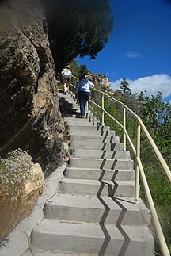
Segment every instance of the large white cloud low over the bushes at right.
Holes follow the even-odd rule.
[[[111,83],[111,89],[120,89],[120,80]],[[163,98],[171,96],[171,77],[165,74],[151,75],[136,80],[127,79],[128,87],[132,93],[140,93],[146,90],[148,96],[158,94],[158,91],[163,93]]]

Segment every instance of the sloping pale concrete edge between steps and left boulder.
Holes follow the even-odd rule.
[[[59,189],[59,182],[63,178],[65,168],[66,164],[59,166],[59,168],[55,169],[45,180],[44,193],[39,197],[31,214],[17,224],[13,231],[6,237],[3,246],[0,248],[0,256],[21,256],[28,250],[28,240],[24,232],[26,232],[29,237],[35,224],[43,220],[44,205]]]

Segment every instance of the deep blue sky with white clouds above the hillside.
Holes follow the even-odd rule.
[[[171,3],[169,0],[111,0],[114,29],[96,60],[78,59],[108,76],[112,89],[127,78],[132,92],[163,92],[171,98]]]

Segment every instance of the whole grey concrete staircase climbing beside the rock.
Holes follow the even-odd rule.
[[[79,117],[70,95],[60,94],[70,134],[70,157],[60,189],[32,231],[36,256],[96,254],[154,256],[148,210],[134,197],[134,164],[120,138],[87,113]]]

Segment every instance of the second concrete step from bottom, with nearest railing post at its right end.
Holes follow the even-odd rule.
[[[142,225],[148,211],[142,201],[133,198],[82,196],[58,193],[47,202],[44,216],[48,219],[74,222]]]

